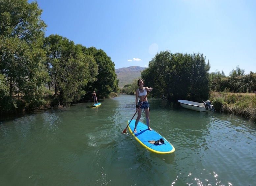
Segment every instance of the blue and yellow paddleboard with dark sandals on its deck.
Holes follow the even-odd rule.
[[[128,120],[127,125],[129,124],[130,120]],[[148,126],[139,122],[136,130],[137,133],[133,133],[135,126],[135,120],[131,120],[128,129],[130,133],[135,137],[135,139],[145,148],[148,150],[158,153],[158,154],[167,154],[167,153],[172,153],[175,151],[174,146],[170,144],[164,137],[162,137],[160,134],[158,134],[155,130],[152,129],[152,131],[148,130]],[[149,141],[157,141],[159,139],[164,140],[163,145],[154,145],[152,142],[150,143]]]

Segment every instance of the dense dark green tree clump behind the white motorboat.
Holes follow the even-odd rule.
[[[154,88],[155,97],[195,100],[208,97],[209,69],[203,54],[166,50],[156,54],[141,77]]]

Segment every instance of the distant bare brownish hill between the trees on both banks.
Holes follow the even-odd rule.
[[[140,78],[140,72],[144,69],[145,67],[140,66],[129,66],[126,68],[115,69],[117,79],[119,79],[118,87],[123,88],[125,85],[132,83],[134,79]]]

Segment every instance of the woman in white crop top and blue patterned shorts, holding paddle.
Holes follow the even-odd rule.
[[[138,117],[135,121],[135,127],[134,127],[134,133],[137,133],[136,127],[138,125],[138,122],[140,120],[141,117],[141,111],[142,109],[144,109],[145,111],[145,115],[146,115],[146,121],[147,121],[147,125],[148,125],[148,129],[152,130],[149,127],[149,102],[147,99],[147,91],[151,92],[153,90],[153,88],[148,88],[148,87],[143,87],[144,85],[144,80],[143,79],[139,79],[138,80],[138,86],[139,88],[136,90],[136,98],[135,98],[135,102],[136,102],[136,111],[138,112]],[[139,97],[139,102],[138,102],[138,97]],[[143,102],[144,100],[144,102]],[[139,108],[139,105],[142,103],[142,105]]]

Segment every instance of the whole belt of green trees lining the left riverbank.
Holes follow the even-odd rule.
[[[1,113],[43,106],[51,95],[51,105],[69,105],[92,90],[108,97],[117,89],[110,57],[59,35],[44,38],[42,12],[37,2],[0,1]]]

